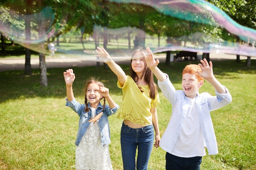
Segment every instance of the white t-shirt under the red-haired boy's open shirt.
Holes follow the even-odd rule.
[[[196,98],[196,97],[195,97]],[[195,108],[195,98],[186,97],[188,107],[186,118],[182,123],[180,135],[171,152],[177,157],[203,157],[206,155],[204,149],[204,137],[200,128],[198,113]]]

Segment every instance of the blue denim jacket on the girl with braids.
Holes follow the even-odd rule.
[[[76,136],[76,146],[79,145],[83,135],[85,134],[86,130],[88,129],[92,119],[92,110],[90,104],[88,103],[89,112],[85,112],[85,104],[80,104],[74,98],[71,102],[66,99],[66,106],[69,106],[72,110],[74,110],[80,117],[79,119],[79,127]],[[101,144],[102,146],[106,146],[110,144],[110,129],[108,124],[108,116],[113,115],[117,112],[119,106],[116,104],[115,108],[110,108],[108,105],[105,106],[103,115],[97,121],[99,124],[99,128],[101,130]],[[96,108],[96,115],[101,113],[103,110],[103,106],[99,103],[99,106]]]

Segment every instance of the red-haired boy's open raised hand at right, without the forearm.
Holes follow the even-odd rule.
[[[202,73],[200,73],[200,71],[198,71],[198,75],[200,75],[204,79],[214,78],[212,62],[210,61],[208,64],[208,62],[205,58],[203,60],[200,60],[200,62],[201,63],[199,63],[198,66],[200,66]]]

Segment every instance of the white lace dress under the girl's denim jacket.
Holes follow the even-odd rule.
[[[92,117],[96,110],[92,108]],[[113,170],[108,146],[101,144],[99,124],[91,122],[76,148],[76,170]]]

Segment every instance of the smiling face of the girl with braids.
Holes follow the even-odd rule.
[[[97,90],[99,90],[99,85],[95,83],[89,84],[86,89],[86,99],[92,108],[97,108],[102,98]]]

